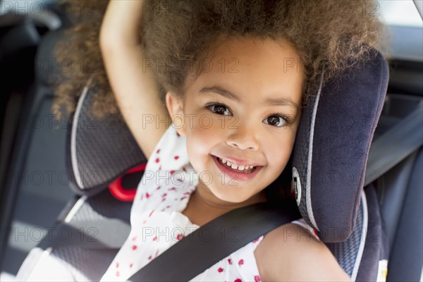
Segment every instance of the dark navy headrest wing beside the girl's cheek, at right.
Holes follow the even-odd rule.
[[[293,149],[293,188],[300,213],[326,243],[355,226],[367,157],[388,85],[378,51],[320,87],[305,107]]]

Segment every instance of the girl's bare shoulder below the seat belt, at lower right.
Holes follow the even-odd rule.
[[[255,257],[262,281],[350,281],[326,245],[295,223],[267,233]]]

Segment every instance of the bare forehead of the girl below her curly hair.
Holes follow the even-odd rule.
[[[186,90],[219,85],[255,97],[279,93],[294,102],[301,99],[300,56],[283,40],[221,37],[200,59],[198,68],[197,75],[187,80]]]

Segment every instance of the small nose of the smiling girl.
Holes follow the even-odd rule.
[[[226,141],[229,146],[252,151],[259,149],[258,132],[254,128],[247,125],[238,125],[237,128],[228,130],[231,130]]]

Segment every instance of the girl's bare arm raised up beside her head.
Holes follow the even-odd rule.
[[[140,0],[111,0],[99,41],[119,109],[145,157],[149,158],[170,122],[159,100],[159,85],[152,68],[142,68],[140,20],[143,4]],[[156,123],[157,118],[168,122]]]

